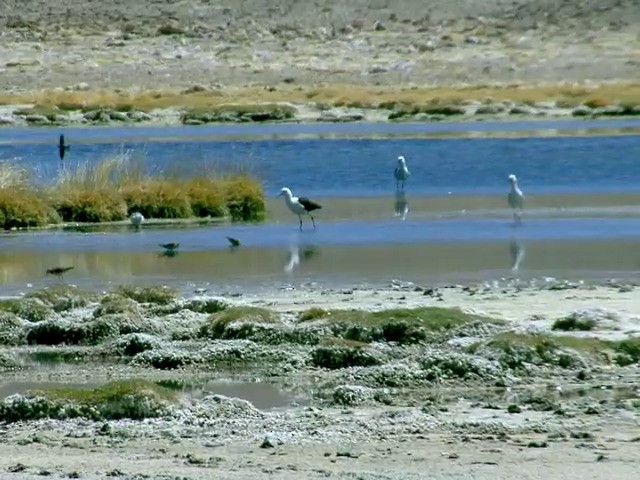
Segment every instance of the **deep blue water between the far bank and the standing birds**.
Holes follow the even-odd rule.
[[[600,122],[611,128],[634,122]],[[558,125],[558,124],[561,124]],[[144,155],[154,170],[180,174],[207,166],[222,171],[247,169],[262,181],[267,195],[282,186],[311,197],[388,196],[395,184],[398,155],[407,158],[412,195],[503,194],[507,175],[515,173],[526,193],[640,192],[640,135],[511,139],[280,139],[259,141],[198,140],[180,136],[247,135],[265,132],[418,132],[442,129],[517,130],[518,128],[585,128],[587,122],[528,122],[417,125],[269,125],[184,128],[74,128],[0,130],[0,159],[13,159],[42,180],[59,171],[57,135],[72,145],[69,168],[96,162],[122,149]],[[160,138],[128,142],[123,138]],[[100,139],[100,141],[96,141]],[[48,143],[44,143],[48,141]],[[12,143],[18,142],[18,143]]]

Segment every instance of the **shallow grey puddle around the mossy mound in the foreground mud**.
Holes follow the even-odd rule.
[[[165,388],[179,391],[193,399],[201,399],[207,395],[224,395],[231,398],[240,398],[251,402],[260,410],[273,410],[291,407],[294,403],[304,402],[282,392],[277,387],[261,382],[234,382],[234,381],[193,381],[160,380],[156,382]],[[63,383],[63,382],[8,382],[0,384],[0,399],[16,393],[25,393],[30,390],[44,390],[49,388],[97,388],[102,383]]]

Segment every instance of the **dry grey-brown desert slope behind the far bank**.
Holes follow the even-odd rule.
[[[634,81],[638,0],[3,0],[0,88]]]

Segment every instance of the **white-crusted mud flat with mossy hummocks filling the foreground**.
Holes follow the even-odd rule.
[[[635,478],[639,307],[551,279],[32,291],[0,301],[0,471]]]

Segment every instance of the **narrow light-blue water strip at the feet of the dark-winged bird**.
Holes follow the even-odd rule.
[[[632,239],[640,234],[640,218],[531,219],[514,228],[503,219],[431,221],[349,221],[306,227],[296,224],[209,226],[190,229],[123,229],[110,233],[42,232],[4,235],[2,247],[15,252],[149,252],[159,244],[180,242],[180,251],[212,251],[229,247],[225,236],[242,239],[244,248],[291,245],[358,246],[401,244],[479,244],[518,241],[596,241]]]

